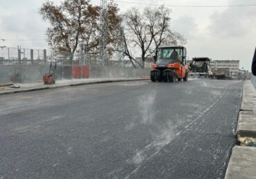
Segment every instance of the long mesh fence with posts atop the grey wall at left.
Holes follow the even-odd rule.
[[[88,65],[109,67],[131,67],[131,61],[120,56],[102,56],[80,52],[60,52],[53,50],[35,50],[26,48],[0,48],[0,65]],[[145,62],[149,68],[152,62]]]

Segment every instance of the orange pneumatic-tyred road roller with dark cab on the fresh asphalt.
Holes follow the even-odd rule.
[[[164,46],[158,48],[158,56],[150,72],[152,82],[188,81],[187,50],[183,46]]]

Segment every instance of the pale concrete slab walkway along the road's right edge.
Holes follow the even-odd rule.
[[[244,83],[236,136],[240,146],[232,149],[225,178],[256,178],[256,88],[251,81]]]

